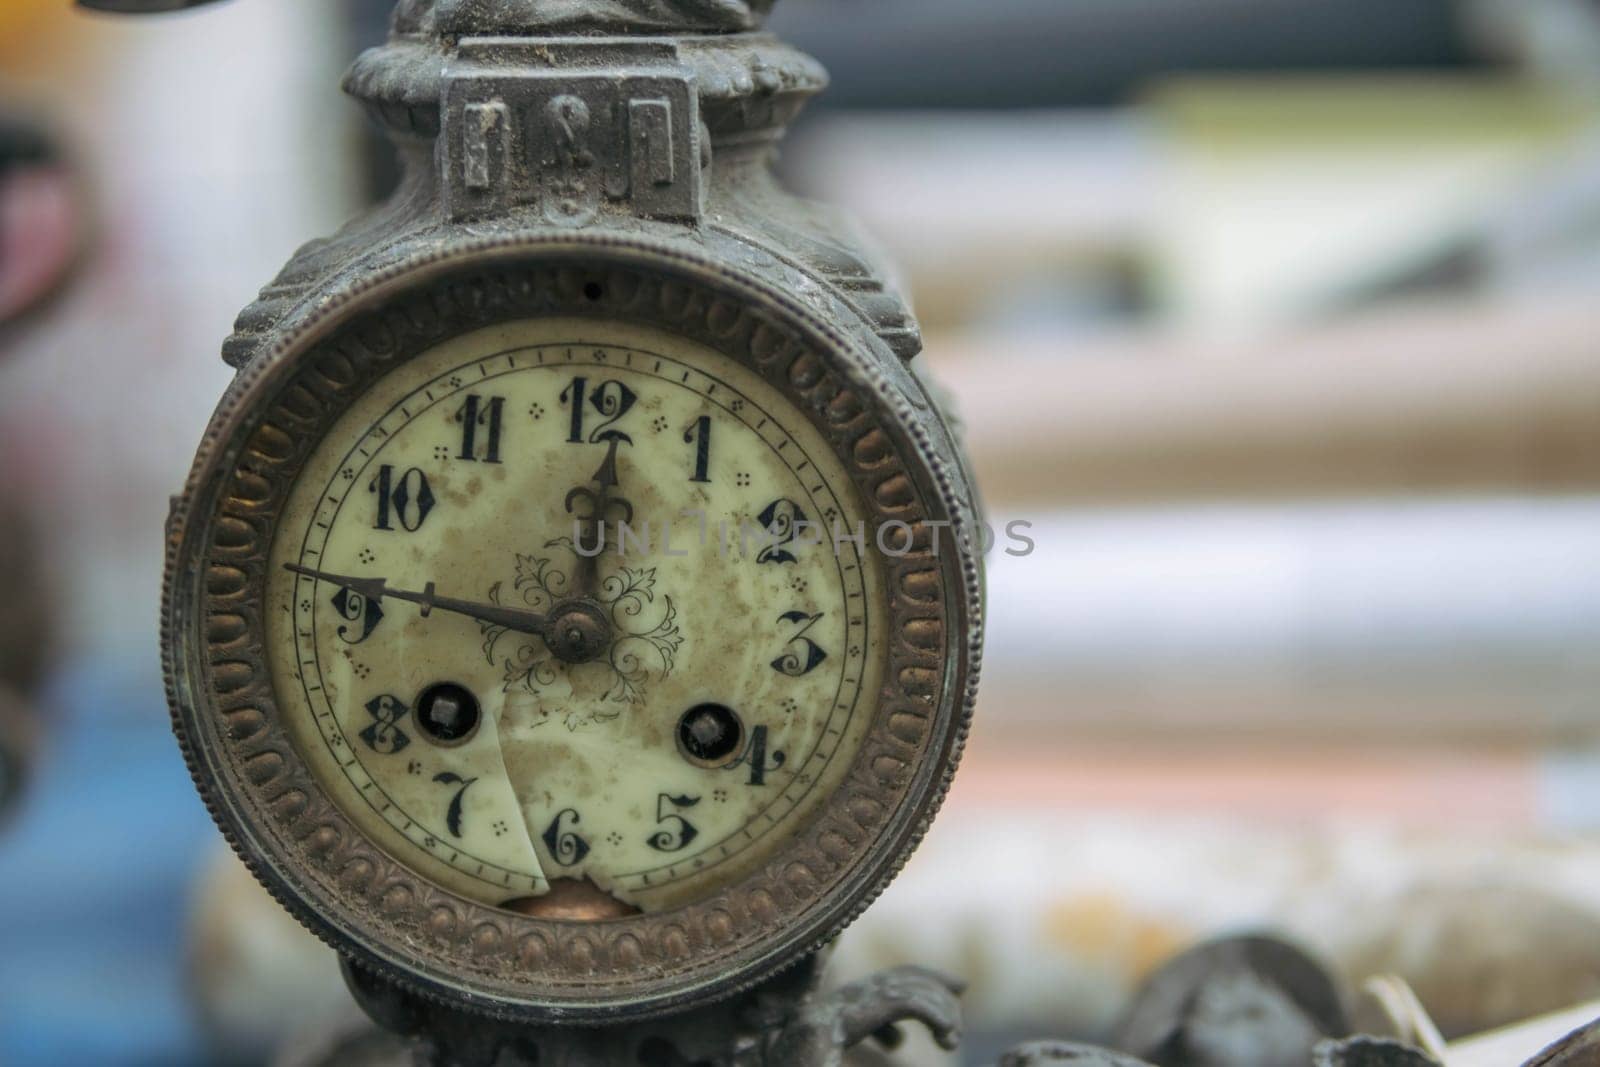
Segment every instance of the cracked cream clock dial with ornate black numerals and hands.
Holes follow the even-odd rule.
[[[550,918],[704,899],[867,736],[866,515],[811,422],[709,347],[589,318],[462,334],[378,379],[293,483],[264,605],[280,713],[334,805],[453,893]]]

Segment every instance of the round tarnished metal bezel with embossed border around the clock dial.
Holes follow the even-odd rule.
[[[936,405],[899,360],[840,326],[851,315],[690,240],[525,232],[443,248],[419,242],[386,261],[307,306],[243,368],[174,501],[166,685],[208,808],[258,878],[320,937],[402,989],[501,1019],[654,1017],[803,958],[902,867],[949,787],[973,710],[976,514]],[[746,363],[813,419],[870,522],[915,531],[909,555],[883,558],[888,669],[845,784],[765,867],[669,913],[534,920],[427,883],[322,793],[266,670],[266,560],[277,509],[312,445],[405,358],[466,330],[542,315],[653,323]]]

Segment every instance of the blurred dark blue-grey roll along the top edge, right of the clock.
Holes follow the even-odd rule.
[[[811,0],[773,27],[832,69],[824,107],[1107,106],[1171,70],[1483,62],[1456,0]]]

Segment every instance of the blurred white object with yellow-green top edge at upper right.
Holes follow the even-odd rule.
[[[1211,333],[1338,310],[1469,240],[1595,122],[1507,78],[1174,82],[1157,286]]]

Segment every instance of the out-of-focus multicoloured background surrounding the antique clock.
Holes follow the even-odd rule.
[[[157,603],[234,315],[394,181],[336,90],[387,6],[0,5],[0,1064],[267,1062],[350,1011],[222,857]],[[966,976],[973,1064],[1237,928],[1446,1035],[1600,997],[1600,3],[774,27],[835,82],[786,176],[899,261],[1037,545],[838,971]]]

